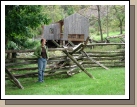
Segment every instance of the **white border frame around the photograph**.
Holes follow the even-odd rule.
[[[67,3],[66,3],[67,2]],[[56,4],[55,4],[56,3]],[[129,1],[1,1],[1,46],[5,50],[5,5],[125,5],[125,95],[5,95],[5,51],[1,51],[1,99],[129,99]],[[35,97],[34,97],[35,96]]]

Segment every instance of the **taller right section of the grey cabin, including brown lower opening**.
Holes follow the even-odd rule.
[[[64,19],[64,38],[72,42],[80,43],[89,36],[89,20],[78,13]]]

